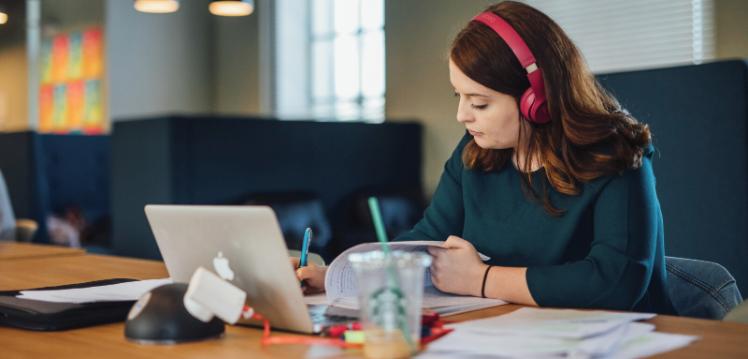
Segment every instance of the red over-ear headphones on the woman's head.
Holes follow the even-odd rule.
[[[481,22],[496,32],[502,40],[512,49],[514,56],[527,71],[527,79],[530,80],[530,88],[522,94],[519,100],[519,109],[522,115],[533,123],[546,123],[551,120],[548,114],[548,106],[545,101],[545,84],[543,74],[535,61],[535,56],[527,47],[522,37],[514,31],[509,23],[493,12],[486,11],[473,18],[473,21]]]

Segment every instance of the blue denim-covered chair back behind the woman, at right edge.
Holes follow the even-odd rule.
[[[743,301],[735,278],[718,263],[666,257],[668,292],[678,315],[722,319]]]

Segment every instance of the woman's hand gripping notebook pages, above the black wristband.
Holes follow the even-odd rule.
[[[480,296],[486,264],[473,245],[457,236],[449,236],[441,248],[428,247],[434,257],[431,281],[442,292]]]

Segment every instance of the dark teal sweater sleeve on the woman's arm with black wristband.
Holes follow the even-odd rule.
[[[650,156],[599,192],[594,237],[584,259],[527,269],[527,285],[538,305],[630,310],[642,299],[662,236]]]

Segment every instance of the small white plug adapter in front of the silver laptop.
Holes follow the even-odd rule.
[[[234,324],[244,309],[247,293],[203,267],[195,270],[184,295],[184,307],[195,318],[208,322],[213,316]]]

